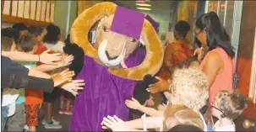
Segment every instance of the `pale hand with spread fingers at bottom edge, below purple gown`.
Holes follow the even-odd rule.
[[[116,115],[114,117],[107,116],[107,118],[103,118],[101,123],[102,129],[112,129],[112,131],[130,131],[124,124],[122,119],[117,118]]]

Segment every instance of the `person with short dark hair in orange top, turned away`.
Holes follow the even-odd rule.
[[[190,26],[185,21],[179,21],[175,25],[175,40],[166,45],[164,64],[161,68],[160,77],[171,79],[172,72],[180,61],[185,61],[193,56],[193,45],[186,39]]]

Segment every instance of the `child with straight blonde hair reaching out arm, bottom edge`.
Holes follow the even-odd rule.
[[[160,131],[167,131],[180,124],[193,125],[199,129],[204,129],[204,123],[200,119],[199,114],[184,105],[169,106],[166,108],[163,117],[147,119],[148,120],[144,120],[147,123],[142,120],[138,121],[138,124],[141,126],[143,124],[145,126],[146,124],[155,122],[154,125],[150,125],[149,127],[151,129],[160,128]],[[116,116],[107,116],[107,119],[104,118],[101,125],[103,129],[110,128],[113,131],[139,131],[139,127],[137,129],[128,128],[128,125]]]

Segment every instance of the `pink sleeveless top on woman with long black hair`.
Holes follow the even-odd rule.
[[[210,50],[204,56],[204,60],[200,65],[200,70],[203,70],[203,66],[205,61],[207,60],[208,55],[211,52],[217,52],[221,55],[222,61],[224,62],[224,68],[220,74],[218,74],[215,78],[215,82],[210,87],[209,92],[209,101],[210,103],[214,102],[215,94],[221,90],[227,90],[229,92],[233,92],[233,74],[234,74],[234,59],[226,54],[226,51],[222,48],[216,48],[214,50]]]

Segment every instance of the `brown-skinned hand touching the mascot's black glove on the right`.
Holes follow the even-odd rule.
[[[147,89],[148,92],[156,93],[156,92],[166,92],[169,91],[169,86],[171,85],[171,81],[161,79],[160,77],[155,77],[159,80],[155,84],[150,84],[150,87]]]

